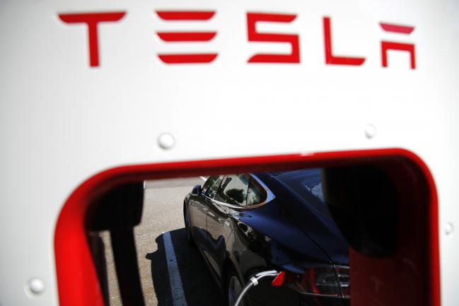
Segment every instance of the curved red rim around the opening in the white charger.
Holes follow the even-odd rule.
[[[66,200],[57,220],[54,253],[59,305],[104,305],[91,251],[86,240],[84,222],[92,199],[113,187],[139,180],[213,175],[244,170],[257,172],[300,167],[329,167],[368,162],[380,158],[406,158],[421,170],[429,186],[431,204],[429,206],[429,275],[432,283],[429,305],[440,306],[438,196],[434,178],[421,158],[400,148],[131,165],[100,172],[76,188]]]

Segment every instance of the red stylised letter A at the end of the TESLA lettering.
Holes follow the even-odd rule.
[[[414,27],[409,27],[406,25],[392,25],[390,23],[380,23],[381,28],[385,32],[392,32],[398,34],[409,35],[413,32]],[[404,42],[386,42],[381,41],[381,59],[383,67],[388,66],[388,50],[398,50],[409,52],[409,58],[411,62],[411,69],[416,69],[416,59],[414,57],[414,45],[407,44]]]

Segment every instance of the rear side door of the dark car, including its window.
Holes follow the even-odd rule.
[[[209,233],[209,263],[221,276],[221,264],[226,257],[226,242],[233,230],[231,213],[240,206],[246,206],[250,175],[226,175],[216,192],[207,212]]]

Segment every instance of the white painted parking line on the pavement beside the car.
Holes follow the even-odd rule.
[[[174,246],[170,233],[163,233],[165,260],[168,262],[170,293],[172,295],[173,306],[187,306],[185,292],[183,292],[182,279],[178,269],[177,258],[175,257]]]

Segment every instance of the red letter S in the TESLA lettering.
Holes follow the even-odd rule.
[[[247,30],[249,42],[288,42],[291,45],[290,54],[255,54],[249,63],[299,63],[300,47],[298,35],[257,33],[256,23],[268,21],[275,23],[291,23],[296,15],[281,15],[269,13],[247,13]]]

